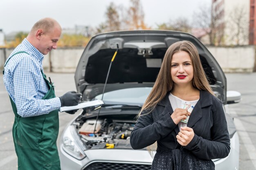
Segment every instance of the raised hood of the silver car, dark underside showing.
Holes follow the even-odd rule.
[[[101,94],[117,48],[105,92],[152,87],[167,48],[182,40],[196,46],[213,90],[226,103],[226,77],[217,61],[193,35],[175,31],[117,31],[92,37],[76,68],[76,89],[83,93],[84,100]]]

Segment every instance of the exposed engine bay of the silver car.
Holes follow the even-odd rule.
[[[130,134],[135,120],[89,118],[77,119],[72,125],[87,149],[132,148]]]

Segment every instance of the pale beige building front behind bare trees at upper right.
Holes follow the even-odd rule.
[[[255,0],[212,0],[216,45],[248,45],[250,3]]]

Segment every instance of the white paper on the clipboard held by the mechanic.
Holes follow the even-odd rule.
[[[98,100],[93,100],[93,101],[89,101],[89,102],[79,103],[76,106],[64,106],[64,107],[61,107],[60,108],[60,112],[76,110],[76,109],[82,109],[82,108],[85,108],[85,107],[97,106],[97,105],[102,105],[102,104],[104,104],[104,102],[102,100],[98,99]]]

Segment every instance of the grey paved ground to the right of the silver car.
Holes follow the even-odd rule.
[[[226,74],[228,90],[242,94],[229,108],[240,137],[240,170],[256,170],[256,73]]]

